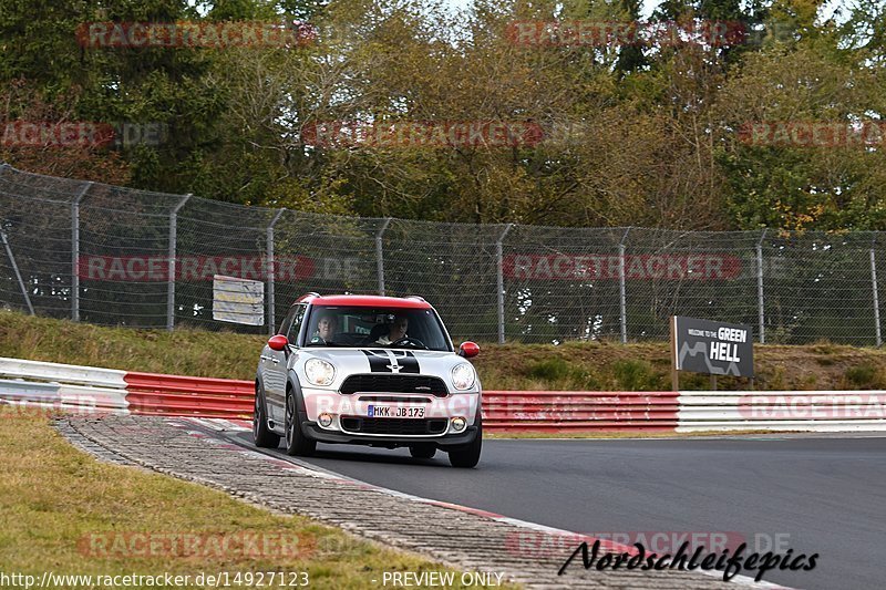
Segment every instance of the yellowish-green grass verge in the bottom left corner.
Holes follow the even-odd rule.
[[[0,407],[0,563],[7,575],[40,580],[44,571],[169,572],[192,576],[186,588],[202,588],[209,584],[193,583],[200,572],[229,572],[233,580],[237,572],[305,571],[310,588],[359,589],[378,588],[371,580],[381,581],[382,571],[452,571],[305,517],[278,516],[196,484],[100,463],[69,445],[44,416]],[[51,587],[87,586],[56,580]]]

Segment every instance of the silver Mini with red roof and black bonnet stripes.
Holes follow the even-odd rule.
[[[449,453],[474,467],[483,444],[481,385],[434,308],[418,297],[309,293],[261,351],[253,437],[309,456],[317,443]]]

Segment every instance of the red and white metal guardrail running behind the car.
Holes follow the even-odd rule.
[[[86,413],[250,420],[254,383],[0,358],[0,400]],[[486,391],[491,432],[886,431],[886,392]]]

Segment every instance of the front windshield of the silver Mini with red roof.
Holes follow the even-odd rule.
[[[452,350],[433,310],[332,306],[313,308],[305,345]]]

